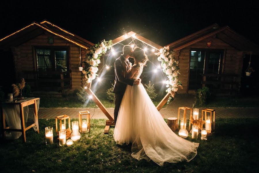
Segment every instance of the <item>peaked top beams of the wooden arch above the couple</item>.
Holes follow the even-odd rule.
[[[114,39],[113,45],[118,44],[119,42],[122,42],[122,41],[128,39],[129,37],[133,37],[134,39],[137,39],[137,40],[143,42],[144,44],[147,44],[148,46],[151,46],[157,50],[160,50],[161,48],[163,48],[162,46],[159,46],[158,44],[151,42],[150,40],[138,35],[137,33],[134,33],[133,31],[130,31],[127,34],[124,34],[124,35]]]

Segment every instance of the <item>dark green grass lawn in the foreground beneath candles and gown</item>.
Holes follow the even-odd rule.
[[[74,120],[71,120],[74,121]],[[26,131],[27,143],[21,137],[1,142],[1,172],[258,172],[259,119],[216,119],[216,131],[200,143],[197,156],[190,162],[165,163],[138,161],[131,157],[131,146],[116,145],[114,127],[104,134],[105,120],[91,120],[91,131],[82,134],[72,146],[45,145],[46,126],[55,120],[39,119],[40,133]],[[187,123],[188,124],[188,123]],[[177,132],[176,132],[177,133]],[[177,133],[178,134],[178,133]],[[199,134],[200,137],[200,134]],[[174,142],[174,141],[172,141]]]

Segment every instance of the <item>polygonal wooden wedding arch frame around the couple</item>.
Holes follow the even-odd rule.
[[[159,46],[158,44],[155,44],[154,42],[151,42],[150,40],[138,35],[137,33],[134,33],[133,31],[130,31],[129,33],[122,35],[116,39],[114,39],[113,45],[118,44],[119,42],[122,42],[126,39],[128,39],[129,37],[133,37],[134,39],[137,39],[141,42],[143,42],[144,44],[151,46],[157,50],[160,50],[161,48],[163,48],[162,46]],[[104,133],[107,134],[109,132],[109,128],[110,125],[115,125],[114,124],[114,119],[111,116],[111,114],[107,111],[107,109],[103,106],[103,104],[101,103],[101,101],[98,99],[98,97],[96,97],[96,95],[94,94],[94,92],[91,90],[91,84],[92,82],[88,83],[86,86],[86,91],[89,95],[92,95],[92,99],[94,100],[94,102],[96,103],[96,105],[102,110],[102,112],[105,114],[105,116],[109,119],[106,120],[106,126],[104,129]],[[160,103],[157,105],[157,110],[159,111],[167,102],[168,98],[170,96],[170,93],[167,93],[165,95],[165,97],[160,101]]]

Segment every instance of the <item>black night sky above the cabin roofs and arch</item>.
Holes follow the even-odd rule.
[[[9,3],[11,1],[8,1]],[[33,21],[50,22],[90,42],[113,40],[134,31],[165,46],[213,23],[258,42],[259,14],[249,1],[25,1],[3,5],[0,37],[3,38]],[[36,5],[39,3],[39,5]]]

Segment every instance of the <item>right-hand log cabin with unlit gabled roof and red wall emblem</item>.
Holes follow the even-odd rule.
[[[242,81],[249,78],[245,76],[247,59],[251,55],[254,57],[254,67],[259,59],[257,44],[230,27],[217,24],[166,46],[176,51],[179,60],[179,80],[183,89],[178,93],[194,93],[207,86],[214,93],[237,94]],[[258,74],[250,77],[258,78]]]

